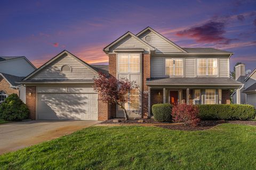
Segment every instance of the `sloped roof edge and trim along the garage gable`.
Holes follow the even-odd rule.
[[[87,64],[86,62],[82,61],[80,58],[78,58],[77,56],[75,56],[74,54],[71,54],[70,52],[68,52],[67,50],[63,50],[62,52],[60,52],[59,54],[57,54],[56,56],[54,56],[51,60],[49,60],[48,62],[46,62],[45,64],[43,64],[41,67],[39,67],[37,70],[35,70],[34,72],[32,72],[31,74],[29,74],[26,78],[24,78],[22,81],[28,80],[30,77],[32,77],[33,75],[35,75],[36,73],[38,73],[39,71],[41,71],[42,69],[44,69],[47,65],[51,64],[53,61],[57,60],[59,57],[61,57],[63,54],[68,54],[71,57],[74,57],[78,62],[82,63],[84,66],[88,67],[92,72],[94,72],[95,74],[98,74],[97,69],[95,69],[95,67],[91,66],[90,64]]]

